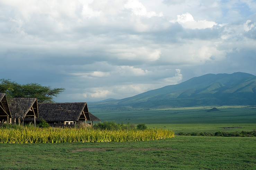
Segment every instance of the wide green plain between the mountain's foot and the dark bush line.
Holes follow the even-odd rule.
[[[256,130],[255,107],[221,106],[220,112],[207,112],[213,106],[159,110],[93,112],[103,121],[145,123],[150,128],[168,128],[175,132],[217,132]],[[223,127],[241,127],[224,129]]]

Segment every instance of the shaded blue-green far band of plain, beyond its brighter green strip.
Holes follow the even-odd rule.
[[[209,108],[161,109],[138,111],[98,111],[95,116],[103,121],[118,123],[182,124],[182,123],[255,123],[256,109],[221,108],[220,112],[207,112]]]

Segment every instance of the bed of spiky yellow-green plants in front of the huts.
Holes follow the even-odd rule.
[[[166,129],[0,128],[0,143],[125,142],[173,138]]]

